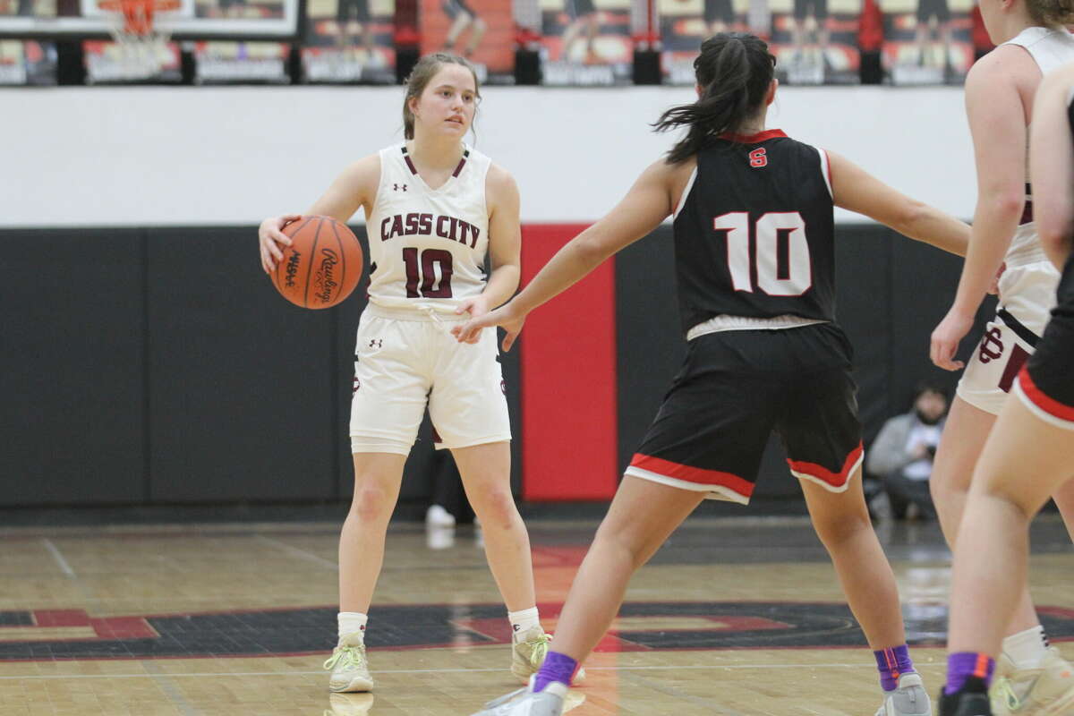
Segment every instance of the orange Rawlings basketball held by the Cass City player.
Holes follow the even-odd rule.
[[[292,244],[271,274],[280,295],[302,308],[331,308],[362,278],[362,245],[332,217],[304,216],[284,227]]]

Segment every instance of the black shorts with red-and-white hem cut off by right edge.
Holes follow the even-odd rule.
[[[1057,299],[1014,392],[1037,418],[1074,430],[1074,255],[1066,260]]]

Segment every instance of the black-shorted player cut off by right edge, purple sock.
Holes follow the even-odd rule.
[[[1074,12],[1064,13],[1064,21],[1074,21]],[[955,545],[941,716],[993,713],[986,691],[997,659],[1008,660],[1001,657],[1003,638],[1026,589],[1030,520],[1057,491],[1070,489],[1074,478],[1072,89],[1074,64],[1068,64],[1045,75],[1033,103],[1033,216],[1048,260],[1063,273],[1051,320],[1018,375],[1014,396],[988,434],[973,473]],[[1074,535],[1074,525],[1066,526]],[[1010,668],[997,675],[992,703],[1012,707],[995,713],[1074,713],[1074,673],[1056,649],[1047,651],[1028,678]]]

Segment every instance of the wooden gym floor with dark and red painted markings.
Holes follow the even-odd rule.
[[[0,714],[466,715],[516,688],[504,610],[469,527],[394,525],[367,643],[377,690],[332,696],[339,525],[0,529]],[[531,522],[546,627],[594,522]],[[934,524],[879,527],[912,649],[941,684],[950,572]],[[1074,657],[1074,556],[1034,525],[1043,618]],[[800,518],[686,523],[632,583],[615,633],[586,663],[576,716],[869,716],[872,655]]]

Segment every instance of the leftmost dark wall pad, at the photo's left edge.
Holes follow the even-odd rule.
[[[143,500],[142,233],[16,230],[0,240],[0,501]]]

